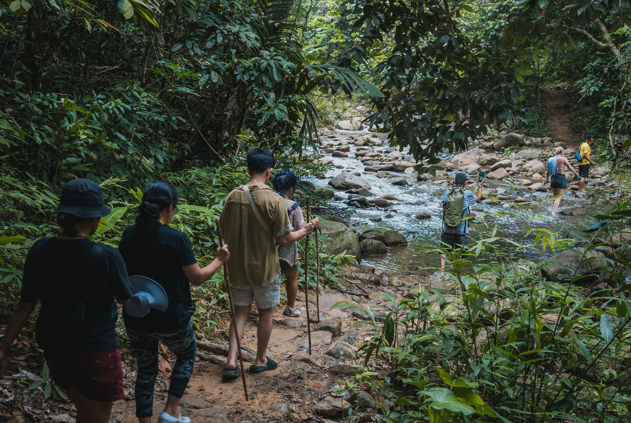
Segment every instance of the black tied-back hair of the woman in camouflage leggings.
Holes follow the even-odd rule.
[[[169,181],[149,182],[143,189],[143,202],[136,208],[136,227],[146,235],[158,227],[160,212],[170,205],[177,205],[180,193]]]

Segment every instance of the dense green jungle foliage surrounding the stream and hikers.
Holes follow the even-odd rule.
[[[4,1],[0,313],[28,247],[56,233],[64,182],[103,186],[113,212],[95,239],[115,246],[144,184],[170,179],[184,202],[174,225],[206,261],[247,149],[320,173],[304,153],[351,101],[372,105],[367,123],[410,146],[418,170],[437,170],[437,154],[490,131],[547,135],[540,88],[562,86],[580,98],[577,130],[596,134],[598,161],[628,172],[630,25],[628,0]],[[628,227],[627,203],[607,213],[613,226],[567,237],[601,247]],[[450,258],[457,296],[420,289],[392,299],[385,324],[371,319],[373,361],[346,389],[385,395],[392,422],[627,421],[628,258],[611,259],[617,288],[594,295],[542,282],[497,241],[477,242],[473,268],[462,251]],[[349,263],[322,261],[328,283]],[[194,295],[194,324],[211,337],[227,302],[220,275]]]

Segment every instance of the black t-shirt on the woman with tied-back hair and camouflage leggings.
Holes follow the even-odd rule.
[[[124,230],[119,246],[129,275],[142,275],[160,283],[167,292],[168,308],[152,308],[143,318],[123,311],[125,325],[148,332],[175,331],[189,325],[195,311],[191,284],[182,266],[197,263],[191,242],[177,229],[160,225],[155,237],[139,234],[136,225]]]

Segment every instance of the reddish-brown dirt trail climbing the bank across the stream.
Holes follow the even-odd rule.
[[[577,95],[564,86],[555,85],[541,88],[541,102],[554,140],[562,141],[566,147],[578,148],[584,134],[581,132],[583,117]]]

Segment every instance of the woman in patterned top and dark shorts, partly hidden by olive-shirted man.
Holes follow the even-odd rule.
[[[298,177],[289,170],[278,172],[272,182],[276,192],[285,199],[285,206],[293,230],[302,229],[305,220],[302,217],[302,209],[295,201],[292,201],[293,194],[298,189]],[[317,227],[320,221],[317,218],[311,220]],[[296,295],[298,295],[298,244],[297,241],[278,248],[278,258],[280,259],[280,270],[285,275],[287,287],[287,306],[283,310],[283,315],[287,317],[300,317],[300,311],[296,309]]]

